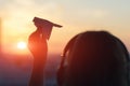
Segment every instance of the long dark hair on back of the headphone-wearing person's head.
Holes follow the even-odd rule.
[[[65,86],[129,86],[129,55],[123,43],[107,31],[87,31],[67,47]]]

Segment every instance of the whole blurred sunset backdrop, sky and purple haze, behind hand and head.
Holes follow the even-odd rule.
[[[46,85],[55,86],[55,73],[65,44],[75,34],[107,30],[130,52],[130,0],[0,0],[0,86],[26,86],[32,56],[27,48],[36,30],[32,18],[60,24],[48,41]]]

